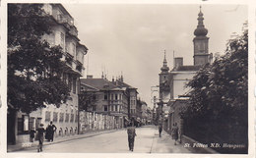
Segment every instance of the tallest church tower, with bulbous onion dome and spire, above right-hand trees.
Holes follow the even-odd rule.
[[[204,18],[203,13],[200,12],[198,14],[198,25],[194,31],[196,37],[194,37],[194,65],[205,65],[207,63],[211,63],[212,56],[208,52],[208,41],[209,37],[207,37],[208,30],[204,26]]]

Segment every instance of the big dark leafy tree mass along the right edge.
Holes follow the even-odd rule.
[[[228,41],[224,56],[216,58],[212,65],[205,65],[187,86],[192,89],[190,106],[180,115],[190,128],[189,134],[198,136],[195,133],[201,129],[203,136],[197,137],[201,141],[218,139],[248,144],[247,23],[242,35]]]

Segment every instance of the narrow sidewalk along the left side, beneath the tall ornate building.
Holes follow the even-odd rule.
[[[95,132],[92,131],[92,132],[87,132],[87,133],[83,133],[83,134],[58,136],[58,137],[54,137],[53,142],[48,142],[48,141],[44,140],[43,145],[51,145],[51,144],[65,142],[65,141],[81,139],[81,138],[86,138],[86,137],[92,137],[92,136],[96,136],[96,135],[103,134],[103,133],[117,132],[117,131],[122,131],[122,130],[125,130],[125,129],[109,130],[109,131],[95,131]],[[7,152],[27,150],[27,149],[33,149],[33,148],[36,149],[37,145],[38,145],[38,141],[19,143],[19,144],[15,144],[15,145],[8,145]]]

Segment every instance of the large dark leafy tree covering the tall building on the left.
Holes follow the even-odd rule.
[[[43,40],[53,21],[42,4],[8,4],[8,105],[31,113],[46,104],[59,107],[69,88],[61,80],[60,46]]]

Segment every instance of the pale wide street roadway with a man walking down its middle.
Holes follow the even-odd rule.
[[[183,145],[174,145],[174,141],[166,132],[159,136],[158,127],[145,126],[136,128],[135,153],[188,153]],[[26,149],[17,152],[37,152]],[[129,153],[128,138],[125,130],[103,133],[91,137],[53,143],[43,146],[43,153]]]

